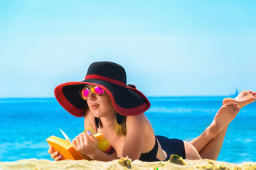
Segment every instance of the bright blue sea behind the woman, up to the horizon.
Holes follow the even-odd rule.
[[[210,125],[225,96],[149,97],[146,116],[156,135],[191,141]],[[55,98],[0,98],[0,161],[49,159],[46,138],[70,139],[83,131],[83,118],[66,112]],[[219,161],[256,162],[256,103],[245,106],[230,123]]]

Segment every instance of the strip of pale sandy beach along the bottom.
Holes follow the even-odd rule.
[[[16,162],[0,162],[0,169],[256,169],[256,162],[231,164],[208,159],[197,161],[176,159],[166,162],[131,162],[128,158],[117,159],[112,162],[99,162],[87,160],[65,160],[60,162],[46,159],[22,159]]]

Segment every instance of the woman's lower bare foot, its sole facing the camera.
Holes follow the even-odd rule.
[[[213,122],[208,127],[208,135],[212,138],[218,135],[221,130],[228,126],[228,124],[235,118],[240,111],[238,104],[235,102],[225,103],[218,113],[216,113]]]

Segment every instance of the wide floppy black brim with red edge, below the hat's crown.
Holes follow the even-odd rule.
[[[117,86],[95,79],[92,79],[91,82],[90,80],[87,82],[73,81],[56,86],[55,98],[68,113],[76,117],[84,116],[87,109],[87,102],[80,96],[80,89],[85,84],[97,85],[104,89],[110,96],[114,110],[121,115],[139,115],[150,108],[150,102],[146,96],[132,87]],[[122,94],[126,96],[122,96]]]

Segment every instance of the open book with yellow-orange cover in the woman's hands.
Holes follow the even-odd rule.
[[[84,132],[90,131],[92,135],[96,137],[98,140],[97,147],[107,154],[114,153],[114,148],[110,145],[110,142],[107,141],[107,139],[100,133],[96,133],[95,130],[90,126],[87,128]],[[46,139],[46,141],[50,144],[51,147],[53,147],[56,151],[60,152],[60,154],[63,156],[60,160],[65,159],[71,159],[71,160],[80,160],[80,159],[87,159],[90,160],[90,157],[87,157],[87,155],[81,154],[78,152],[72,145],[68,135],[65,134],[62,130],[60,130],[65,140],[63,140],[60,137],[50,136]]]

